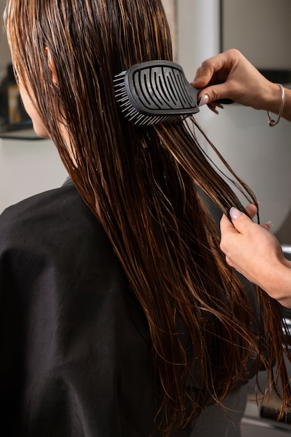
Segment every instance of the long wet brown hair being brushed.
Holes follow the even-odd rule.
[[[278,304],[261,290],[247,292],[226,265],[201,193],[224,213],[242,208],[237,195],[196,140],[194,119],[139,127],[116,105],[116,73],[141,61],[171,60],[161,1],[11,0],[6,24],[17,74],[146,314],[166,435],[259,366],[269,372],[269,389],[278,390],[282,380],[283,412],[291,392]],[[74,156],[56,119],[56,99]]]

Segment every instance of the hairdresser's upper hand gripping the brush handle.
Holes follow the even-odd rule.
[[[192,85],[203,88],[199,94],[200,105],[230,98],[242,105],[276,113],[281,106],[281,89],[278,84],[269,82],[235,49],[204,61]],[[210,108],[213,109],[213,105],[210,104]]]

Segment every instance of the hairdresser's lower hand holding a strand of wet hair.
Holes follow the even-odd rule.
[[[253,217],[254,205],[247,211]],[[258,284],[284,306],[291,306],[291,262],[271,232],[270,223],[258,225],[238,209],[230,210],[231,221],[221,218],[221,250],[226,262]]]

